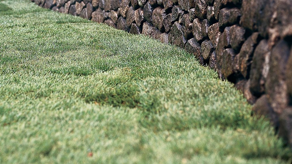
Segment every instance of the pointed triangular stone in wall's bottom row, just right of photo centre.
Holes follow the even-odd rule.
[[[184,47],[187,40],[183,36],[182,26],[175,22],[168,34],[168,41],[173,45],[177,45],[179,47]]]

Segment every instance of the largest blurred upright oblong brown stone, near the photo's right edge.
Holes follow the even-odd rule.
[[[265,89],[272,108],[280,114],[288,105],[287,85],[285,82],[286,64],[289,57],[289,46],[279,41],[271,52],[270,69]]]

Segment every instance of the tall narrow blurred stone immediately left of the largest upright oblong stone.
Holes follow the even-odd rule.
[[[270,68],[270,55],[267,40],[261,40],[253,53],[250,80],[251,92],[259,96],[265,91],[265,82]]]

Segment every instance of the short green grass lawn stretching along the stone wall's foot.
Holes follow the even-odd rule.
[[[289,158],[242,94],[184,50],[28,0],[0,1],[0,163]]]

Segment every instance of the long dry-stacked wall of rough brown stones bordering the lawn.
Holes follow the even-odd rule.
[[[234,82],[292,144],[291,0],[31,1],[185,48]]]

